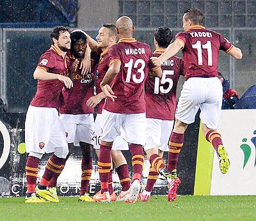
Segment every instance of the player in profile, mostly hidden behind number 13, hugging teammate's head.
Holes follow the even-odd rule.
[[[88,36],[88,35],[87,35]],[[86,102],[87,105],[91,107],[95,107],[98,105],[97,116],[95,119],[95,133],[94,133],[94,145],[97,156],[99,158],[99,149],[100,149],[100,138],[101,138],[101,121],[102,121],[102,107],[104,105],[104,100],[106,96],[102,93],[100,88],[100,82],[104,78],[108,68],[109,68],[109,55],[108,50],[111,46],[116,43],[116,32],[114,24],[103,24],[99,29],[99,34],[97,35],[97,42],[88,36],[88,43],[92,50],[97,50],[100,52],[100,61],[97,67],[97,79],[96,79],[96,91],[97,95],[92,96]],[[111,157],[116,166],[116,172],[120,178],[120,183],[122,185],[122,190],[120,194],[117,196],[118,201],[124,201],[125,196],[129,192],[130,188],[130,178],[129,178],[129,170],[128,165],[125,160],[124,155],[121,150],[127,150],[128,144],[124,141],[121,136],[116,137],[113,149],[111,151]],[[111,201],[115,201],[116,195],[113,192],[112,187],[112,170],[109,172],[109,195]],[[96,199],[97,200],[97,199]]]

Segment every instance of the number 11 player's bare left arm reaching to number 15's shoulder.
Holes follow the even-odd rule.
[[[179,52],[180,49],[184,47],[184,42],[182,40],[175,40],[171,43],[168,48],[165,50],[163,54],[159,57],[150,57],[151,61],[156,66],[161,66],[161,64],[166,61],[168,58],[175,56]]]

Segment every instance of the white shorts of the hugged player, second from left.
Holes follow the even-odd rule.
[[[74,146],[79,146],[79,142],[93,144],[93,114],[60,114],[60,119],[67,132],[68,144],[74,143]]]

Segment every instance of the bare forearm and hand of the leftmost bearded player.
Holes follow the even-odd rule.
[[[33,74],[34,79],[36,80],[60,80],[62,81],[67,88],[72,88],[73,87],[73,82],[69,77],[65,77],[63,75],[58,75],[56,73],[49,73],[46,72],[42,68],[36,68],[34,74]]]

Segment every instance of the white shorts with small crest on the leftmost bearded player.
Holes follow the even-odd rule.
[[[55,148],[67,148],[63,122],[56,108],[29,105],[25,121],[26,152],[52,153]]]

